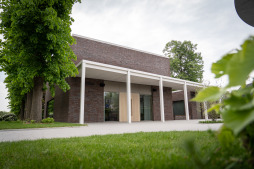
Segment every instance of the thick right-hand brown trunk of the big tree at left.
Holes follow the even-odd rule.
[[[37,122],[42,120],[42,96],[43,96],[43,79],[34,78],[33,99],[31,107],[31,120]]]

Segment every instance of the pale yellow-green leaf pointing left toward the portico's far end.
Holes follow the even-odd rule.
[[[208,87],[200,92],[198,92],[197,96],[192,99],[192,101],[204,102],[204,101],[216,101],[219,100],[220,97],[225,94],[226,90],[221,89],[219,87]]]

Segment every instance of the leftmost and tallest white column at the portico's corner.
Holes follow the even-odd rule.
[[[84,124],[85,116],[85,80],[86,80],[86,63],[81,63],[81,86],[80,86],[80,113],[79,123]]]

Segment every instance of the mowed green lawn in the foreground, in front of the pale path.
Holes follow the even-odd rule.
[[[200,156],[216,146],[207,132],[154,132],[0,143],[1,168],[193,168],[183,142]]]

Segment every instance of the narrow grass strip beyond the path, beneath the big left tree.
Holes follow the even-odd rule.
[[[48,128],[48,127],[72,127],[84,126],[77,123],[26,123],[25,121],[0,121],[0,130],[3,129],[25,129],[25,128]]]

